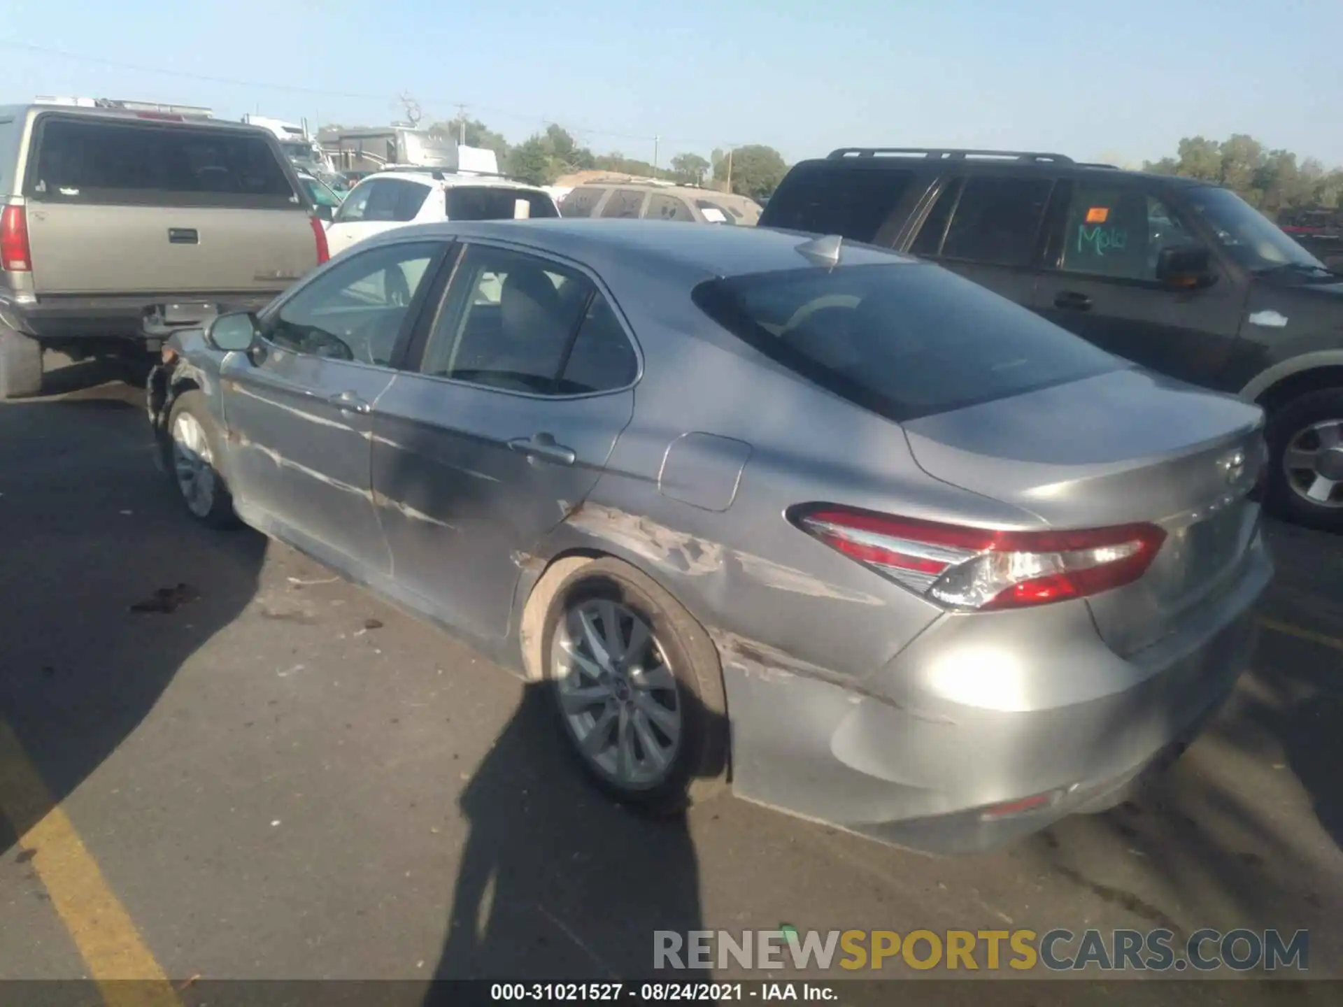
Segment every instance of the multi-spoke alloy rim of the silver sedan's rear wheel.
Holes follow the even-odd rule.
[[[551,669],[564,722],[583,757],[631,789],[666,779],[681,744],[681,697],[643,616],[604,599],[560,619]]]

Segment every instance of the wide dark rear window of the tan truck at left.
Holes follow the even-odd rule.
[[[44,118],[28,193],[47,203],[301,208],[262,136]]]

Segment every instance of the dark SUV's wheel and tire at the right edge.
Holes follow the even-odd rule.
[[[1343,388],[1324,388],[1292,399],[1269,415],[1265,439],[1269,448],[1269,471],[1265,486],[1265,505],[1269,513],[1284,521],[1327,532],[1343,532],[1343,487],[1335,489],[1332,506],[1312,502],[1305,497],[1309,471],[1289,474],[1287,452],[1291,448],[1311,450],[1317,446],[1319,434],[1336,422],[1343,434]],[[1343,461],[1343,455],[1339,457]]]

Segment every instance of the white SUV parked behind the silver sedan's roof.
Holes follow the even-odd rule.
[[[434,168],[402,168],[371,175],[351,189],[326,230],[326,239],[334,255],[356,242],[407,224],[559,215],[549,193],[526,183]]]

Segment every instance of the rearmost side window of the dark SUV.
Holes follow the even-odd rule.
[[[881,166],[800,164],[770,197],[760,226],[872,242],[913,179],[911,171]]]

